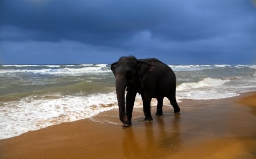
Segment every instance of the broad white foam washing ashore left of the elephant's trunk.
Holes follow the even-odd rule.
[[[117,108],[115,93],[89,97],[48,95],[26,97],[0,106],[0,139],[53,124],[89,118]]]

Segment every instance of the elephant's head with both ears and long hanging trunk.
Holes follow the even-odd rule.
[[[125,123],[127,117],[125,115],[125,88],[135,82],[144,79],[148,72],[154,71],[155,66],[135,57],[121,57],[118,62],[111,65],[111,70],[115,75],[115,90],[117,92],[117,101],[119,107],[119,118]]]

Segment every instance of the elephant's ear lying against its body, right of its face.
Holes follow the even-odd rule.
[[[155,70],[155,66],[146,61],[139,60],[137,63],[137,76],[138,78],[143,78],[146,73],[152,72]]]

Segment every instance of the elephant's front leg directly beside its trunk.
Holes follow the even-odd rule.
[[[131,118],[133,117],[133,106],[137,92],[127,91],[126,94],[126,110],[125,115],[127,116],[127,122],[123,123],[123,127],[131,126]]]

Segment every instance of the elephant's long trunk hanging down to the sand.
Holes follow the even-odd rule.
[[[127,122],[127,117],[125,115],[125,88],[127,86],[126,79],[122,74],[117,74],[115,79],[115,91],[117,92],[117,101],[119,108],[119,118],[120,121]]]

